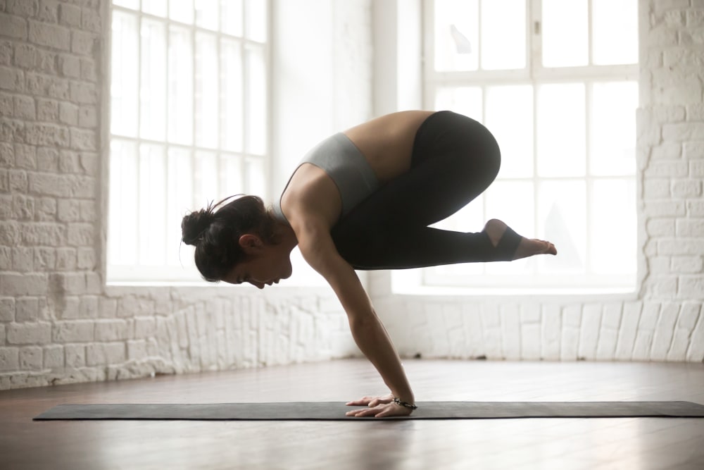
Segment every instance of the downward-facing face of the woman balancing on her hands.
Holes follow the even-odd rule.
[[[291,276],[290,252],[282,245],[262,244],[255,252],[227,273],[223,279],[226,283],[250,283],[263,289],[265,285],[278,284],[279,280]]]

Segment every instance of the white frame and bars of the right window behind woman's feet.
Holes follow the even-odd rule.
[[[479,0],[479,8],[482,1]],[[589,63],[593,63],[593,31],[592,31],[592,1],[589,1]],[[596,82],[613,82],[613,81],[633,81],[638,82],[639,65],[638,63],[617,65],[617,66],[573,66],[564,68],[546,68],[542,65],[542,35],[541,35],[541,1],[526,0],[526,66],[520,70],[472,70],[472,71],[436,71],[435,70],[435,49],[434,49],[434,1],[423,1],[423,97],[425,109],[434,109],[436,90],[441,87],[461,86],[461,87],[484,87],[495,85],[531,85],[533,87],[533,113],[534,122],[536,124],[536,93],[538,85],[548,83],[562,82],[584,82],[586,85],[586,151],[587,151],[587,169],[584,177],[575,178],[546,178],[540,177],[535,168],[532,178],[524,178],[531,180],[534,183],[534,201],[537,200],[536,184],[538,180],[581,180],[586,182],[586,223],[589,227],[590,206],[589,197],[591,193],[592,182],[596,177],[589,173],[589,135],[590,135],[590,120],[589,113],[591,109],[591,89]],[[481,21],[479,28],[482,27]],[[479,51],[481,54],[481,51]],[[480,57],[481,60],[481,57]],[[481,63],[481,62],[480,62]],[[485,102],[483,106],[486,106]],[[484,109],[485,111],[485,109]],[[483,111],[483,112],[484,112]],[[636,119],[634,110],[634,121]],[[489,129],[491,130],[491,129]],[[536,135],[534,127],[534,136]],[[635,140],[635,135],[634,135]],[[536,142],[534,138],[533,154],[536,154]],[[501,142],[499,142],[501,144]],[[631,176],[618,175],[614,178],[620,180],[628,179],[635,184],[635,171]],[[605,180],[610,177],[598,176],[598,179]],[[521,178],[510,178],[510,180],[521,180]],[[470,203],[472,204],[472,203]],[[636,207],[633,208],[634,214]],[[537,211],[534,211],[537,222]],[[484,207],[486,214],[486,207]],[[486,218],[491,218],[491,214],[486,214]],[[510,221],[506,221],[510,225]],[[478,228],[467,227],[465,230],[479,230]],[[634,233],[636,227],[633,228]],[[525,234],[537,236],[534,234]],[[589,272],[589,256],[594,247],[588,242],[587,244],[586,262],[588,263],[587,273],[581,276],[574,276],[571,280],[565,280],[565,276],[559,274],[537,276],[504,276],[499,274],[458,274],[458,273],[443,273],[443,266],[436,268],[425,268],[420,270],[420,283],[431,289],[444,290],[447,287],[456,288],[463,287],[465,290],[477,290],[477,292],[491,293],[492,291],[501,293],[525,293],[525,292],[548,292],[548,293],[568,293],[568,292],[599,292],[599,293],[614,293],[614,292],[633,292],[636,288],[636,256],[634,256],[634,274],[633,275],[613,275],[604,276],[602,274]],[[558,247],[559,250],[559,247]],[[634,254],[636,246],[633,247]],[[413,277],[413,276],[411,276]],[[409,277],[410,279],[410,277]],[[471,287],[470,287],[471,286]]]

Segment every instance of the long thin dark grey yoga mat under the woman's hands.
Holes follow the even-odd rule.
[[[384,419],[501,418],[703,418],[704,404],[692,402],[419,402],[410,416]],[[354,418],[343,402],[210,404],[61,404],[34,418],[151,419],[194,421],[344,421]]]

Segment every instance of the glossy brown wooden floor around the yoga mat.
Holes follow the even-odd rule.
[[[704,364],[407,361],[419,401],[689,400]],[[32,421],[63,403],[346,401],[365,361],[0,392],[0,469],[704,469],[704,419]]]

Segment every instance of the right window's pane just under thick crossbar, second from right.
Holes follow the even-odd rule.
[[[538,174],[582,176],[586,171],[584,84],[541,85],[537,94]]]

